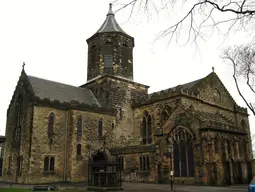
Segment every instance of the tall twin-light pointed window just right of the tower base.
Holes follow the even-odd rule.
[[[142,144],[150,144],[152,142],[151,116],[147,111],[144,112],[141,123]]]

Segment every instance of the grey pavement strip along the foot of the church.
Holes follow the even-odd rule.
[[[57,184],[60,190],[78,190],[85,191],[86,185],[83,183],[60,183]],[[34,185],[12,184],[12,188],[31,189]],[[0,183],[0,188],[9,188],[10,184]],[[167,184],[147,184],[147,183],[123,183],[124,192],[166,192],[170,191],[170,185]],[[196,185],[174,185],[174,192],[247,192],[248,184],[232,186],[196,186]]]

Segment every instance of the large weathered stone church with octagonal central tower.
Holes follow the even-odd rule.
[[[2,180],[86,182],[88,158],[106,145],[122,179],[223,185],[252,177],[248,113],[217,74],[149,94],[133,81],[134,38],[110,5],[87,39],[87,82],[71,86],[26,74],[7,110]],[[173,152],[169,150],[172,141]]]

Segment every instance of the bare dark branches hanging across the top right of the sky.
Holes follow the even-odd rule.
[[[135,10],[159,14],[162,10],[171,12],[186,6],[186,11],[181,10],[184,12],[181,18],[158,35],[158,38],[168,36],[169,41],[187,31],[187,42],[196,42],[197,38],[205,39],[208,30],[228,35],[233,29],[252,32],[255,28],[254,0],[114,0],[113,3],[119,7],[116,12],[130,8],[130,17]]]

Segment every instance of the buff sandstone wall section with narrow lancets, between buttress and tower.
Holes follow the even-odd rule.
[[[77,140],[77,121],[79,117],[82,118],[82,137]],[[70,113],[70,118],[67,181],[86,181],[89,156],[102,147],[104,140],[107,147],[115,146],[115,117],[73,110]],[[99,120],[102,120],[103,123],[103,136],[98,136]],[[81,144],[81,156],[77,156],[78,144]]]

